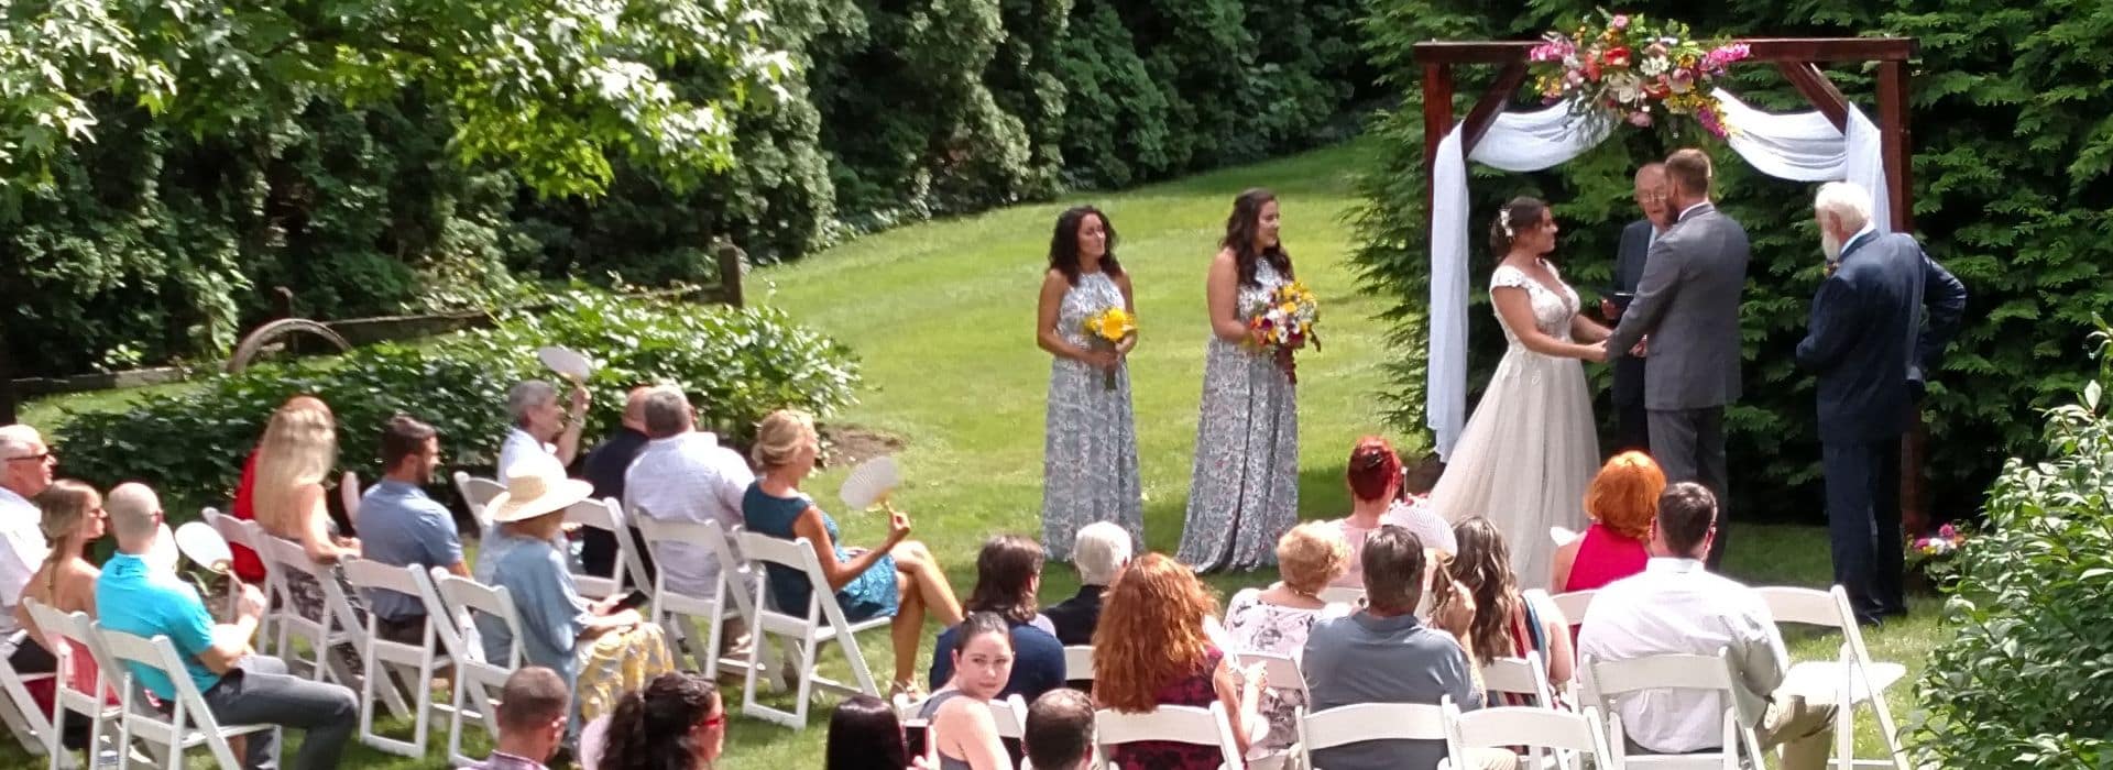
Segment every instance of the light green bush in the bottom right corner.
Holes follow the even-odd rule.
[[[1919,766],[2113,764],[2113,335],[2098,378],[2047,411],[2041,460],[2012,458],[1944,605],[1957,633],[1916,681]]]

